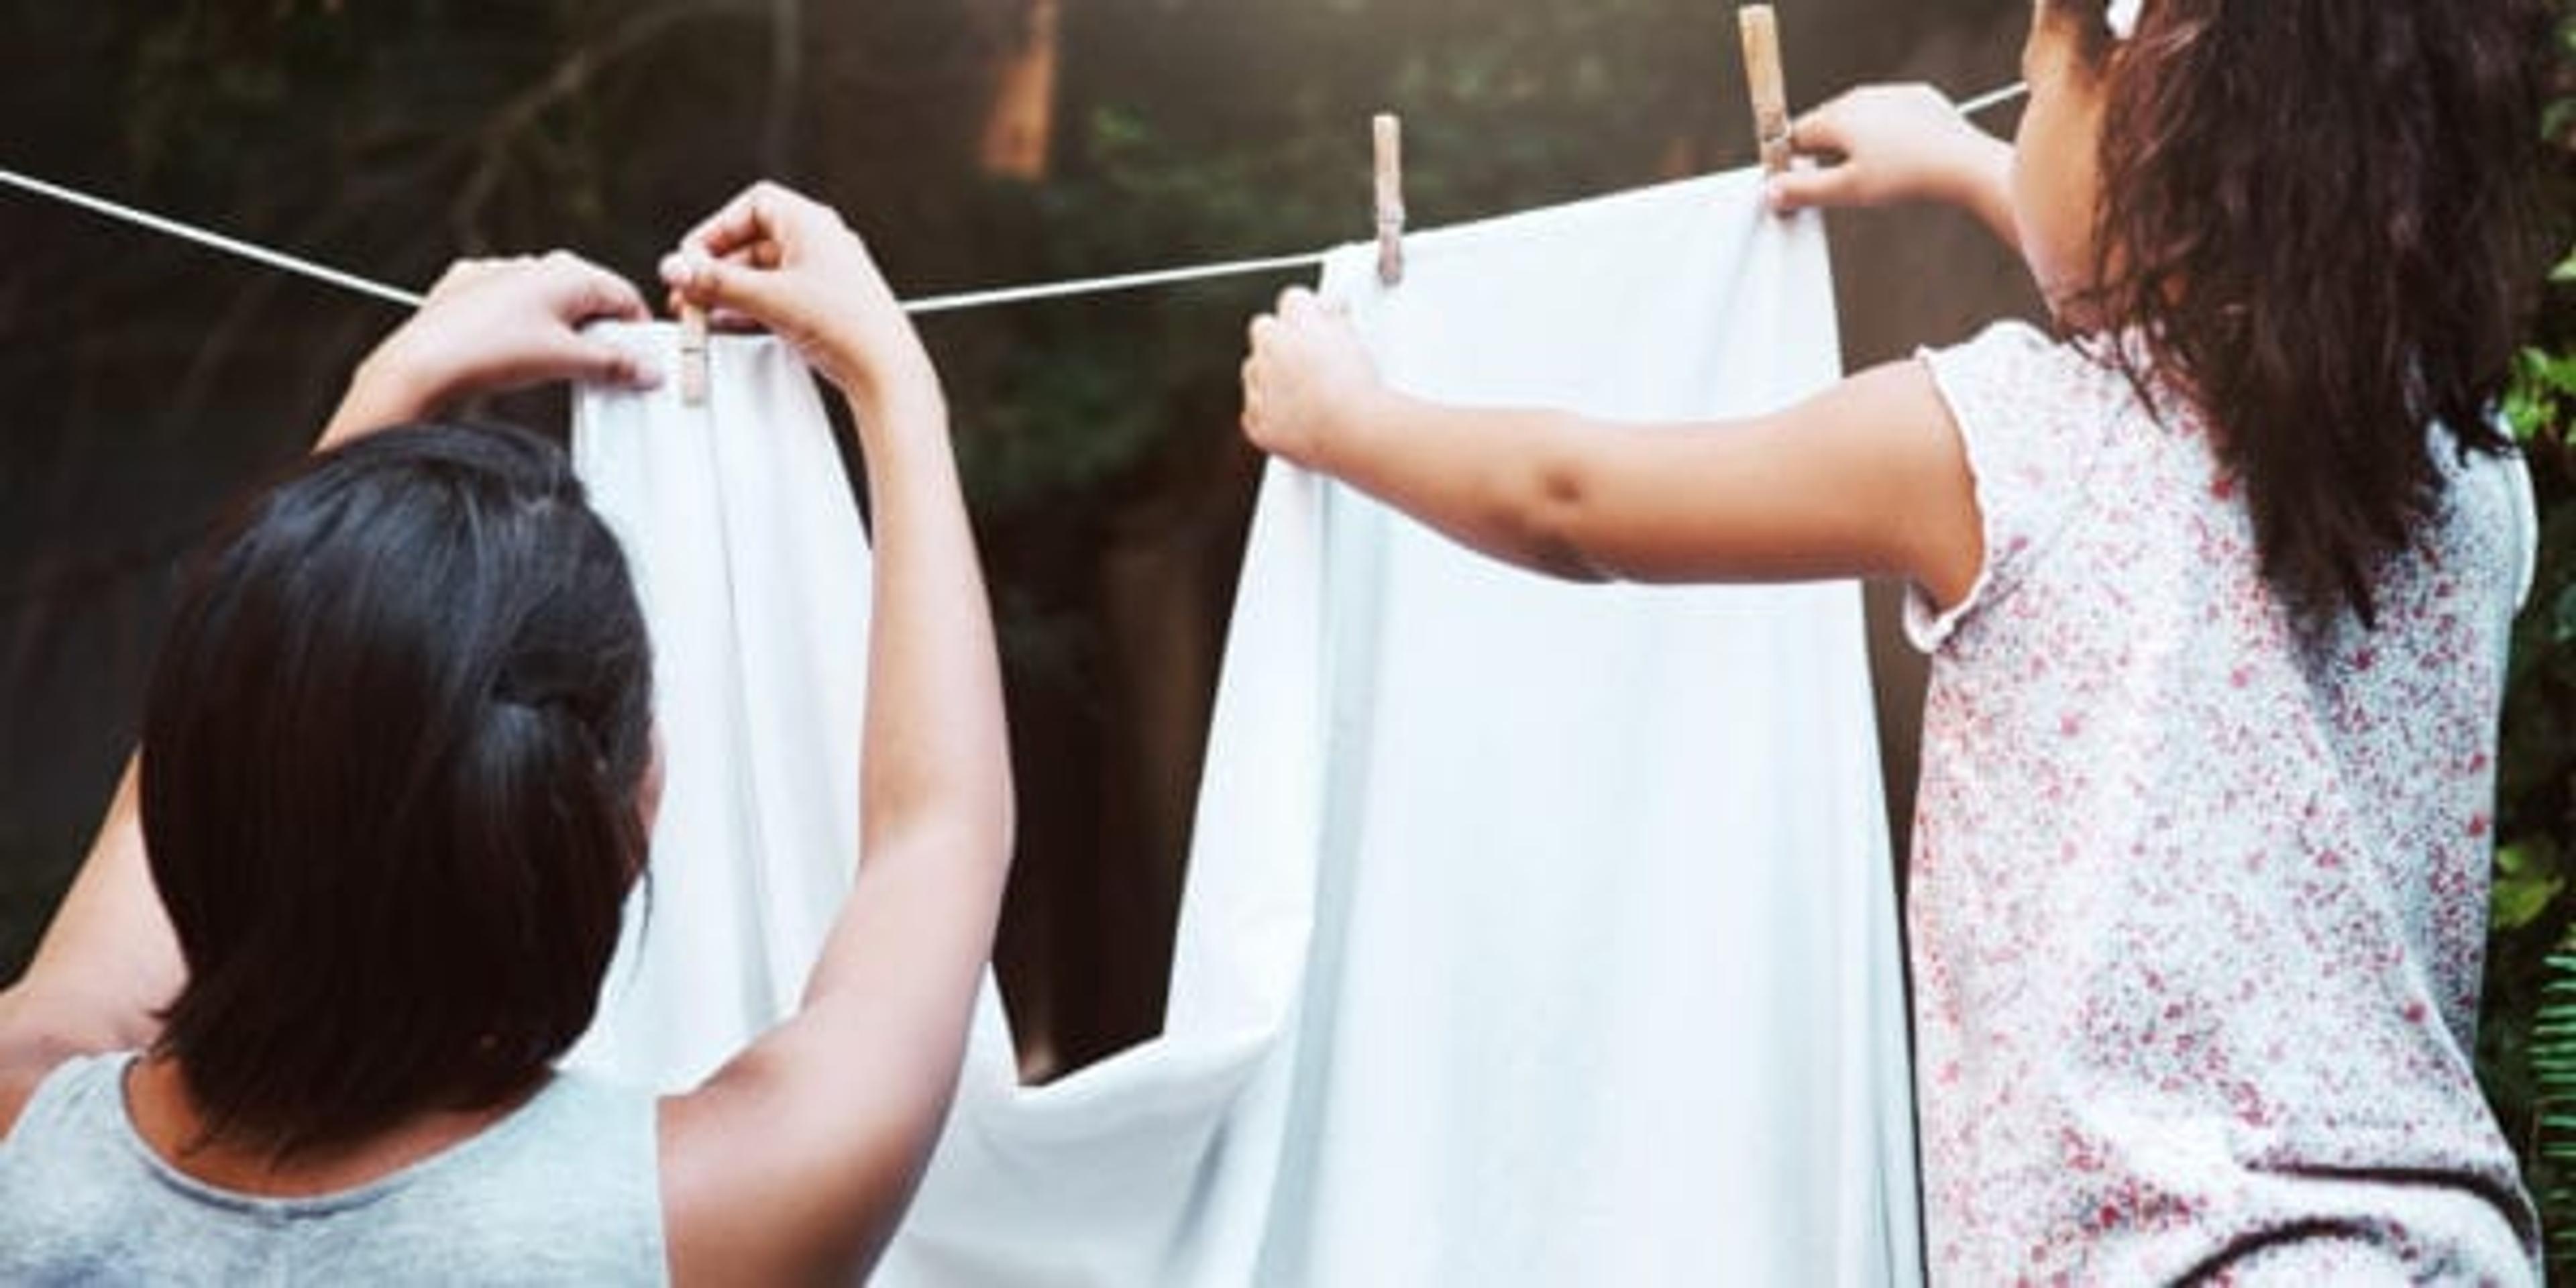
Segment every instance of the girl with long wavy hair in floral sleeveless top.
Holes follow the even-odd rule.
[[[1561,577],[1906,577],[1940,1283],[2535,1278],[2470,1074],[2530,495],[2517,0],[2040,0],[2007,149],[1929,90],[1775,204],[1963,204],[2020,325],[1741,425],[1435,407],[1291,291],[1244,428]]]

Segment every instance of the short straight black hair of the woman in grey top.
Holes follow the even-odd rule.
[[[314,456],[198,554],[142,822],[188,984],[160,1051],[278,1154],[536,1084],[644,863],[652,652],[564,453],[415,425]]]

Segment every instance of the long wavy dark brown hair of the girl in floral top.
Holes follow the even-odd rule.
[[[2442,500],[2427,428],[2509,446],[2548,13],[2146,0],[2112,41],[2105,8],[2048,0],[2107,75],[2087,312],[2210,417],[2282,600],[2375,623],[2372,572]]]

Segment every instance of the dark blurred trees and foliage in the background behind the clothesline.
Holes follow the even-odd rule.
[[[2027,18],[1780,10],[1801,106],[2009,82]],[[904,294],[1314,250],[1368,234],[1381,108],[1417,227],[1752,155],[1734,5],[1710,0],[0,0],[0,165],[410,286],[556,245],[649,281],[762,175],[840,206]],[[175,556],[304,451],[397,314],[13,193],[0,240],[5,979],[131,750]],[[1834,263],[1852,366],[2038,312],[1950,211],[1837,216]],[[1260,466],[1234,433],[1242,322],[1285,281],[925,322],[1005,636],[1023,801],[999,969],[1033,1077],[1159,1025]],[[2481,1061],[2524,1141],[2540,958],[2576,920],[2568,317],[2553,296],[2524,399],[2553,554],[2517,659]],[[559,397],[495,412],[562,425]],[[1883,590],[1873,608],[1904,827],[1922,667]]]

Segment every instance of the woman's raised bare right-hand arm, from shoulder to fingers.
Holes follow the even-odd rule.
[[[1010,866],[1010,747],[948,412],[840,216],[760,185],[690,234],[675,291],[837,384],[868,461],[876,603],[858,881],[793,1018],[662,1105],[677,1283],[863,1273],[938,1141]]]

